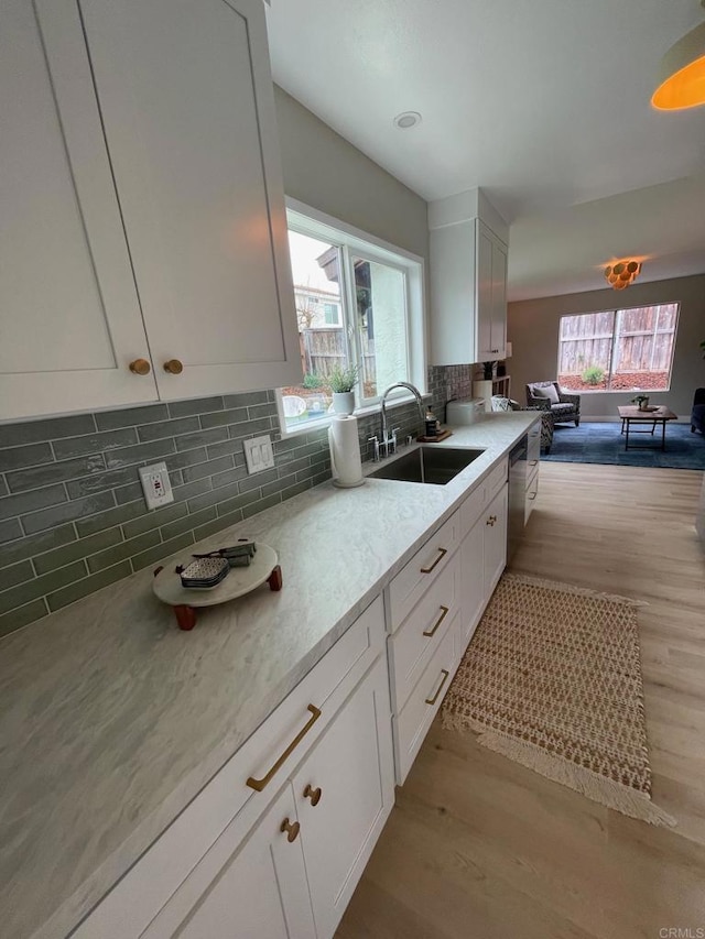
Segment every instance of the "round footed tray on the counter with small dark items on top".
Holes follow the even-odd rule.
[[[262,542],[256,545],[249,538],[242,538],[241,544],[193,557],[194,560],[186,566],[176,565],[173,569],[158,567],[152,582],[156,597],[173,607],[181,630],[193,630],[199,607],[227,603],[264,582],[269,583],[270,590],[282,589],[282,569],[276,552]],[[184,583],[184,578],[187,583]],[[206,582],[208,580],[212,582]]]

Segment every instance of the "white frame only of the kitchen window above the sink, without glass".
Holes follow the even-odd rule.
[[[398,248],[383,239],[362,231],[355,226],[340,221],[333,216],[314,209],[297,199],[286,198],[286,230],[297,231],[325,241],[338,248],[341,253],[340,262],[340,320],[344,330],[344,342],[348,361],[360,361],[360,337],[355,324],[348,321],[348,310],[356,309],[355,283],[350,279],[351,259],[354,255],[361,261],[384,264],[404,274],[404,291],[406,305],[406,375],[399,381],[409,381],[416,385],[422,395],[427,394],[427,342],[426,342],[426,305],[425,305],[425,263],[424,259],[403,248]],[[379,411],[381,394],[364,398],[361,381],[356,389],[355,414],[358,416],[373,414]],[[275,389],[276,411],[282,438],[307,434],[318,428],[327,427],[330,417],[316,418],[286,427],[283,412],[281,389]],[[413,401],[413,395],[404,390],[392,393],[388,401],[402,404]]]

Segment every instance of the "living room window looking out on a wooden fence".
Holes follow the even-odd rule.
[[[579,392],[668,391],[679,304],[561,317],[558,383]]]

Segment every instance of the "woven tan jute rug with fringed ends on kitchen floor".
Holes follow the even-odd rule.
[[[652,825],[639,602],[505,574],[443,705],[446,729]]]

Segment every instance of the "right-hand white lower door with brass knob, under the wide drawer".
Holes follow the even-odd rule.
[[[333,936],[392,809],[393,772],[382,657],[293,778],[319,939]]]

